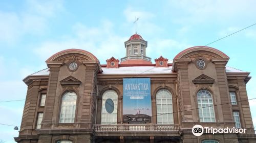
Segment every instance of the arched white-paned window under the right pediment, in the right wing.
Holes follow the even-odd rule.
[[[214,104],[208,90],[197,93],[197,104],[200,122],[215,122]]]

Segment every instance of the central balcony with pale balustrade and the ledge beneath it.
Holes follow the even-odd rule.
[[[116,124],[116,125],[94,125],[97,135],[178,135],[179,125],[164,124]]]

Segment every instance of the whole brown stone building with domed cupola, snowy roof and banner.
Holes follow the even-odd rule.
[[[172,61],[161,56],[152,63],[140,35],[124,45],[120,61],[112,57],[100,64],[90,52],[69,49],[26,77],[15,141],[256,142],[246,92],[249,73],[226,66],[226,54],[196,46]],[[194,125],[246,132],[195,136]]]

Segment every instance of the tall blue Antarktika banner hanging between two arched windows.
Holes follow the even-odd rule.
[[[151,122],[150,78],[123,79],[123,122]]]

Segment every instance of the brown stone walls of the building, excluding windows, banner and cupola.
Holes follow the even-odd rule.
[[[198,63],[204,61],[204,66]],[[180,52],[172,64],[160,57],[156,64],[144,64],[152,68],[172,66],[169,73],[103,74],[99,60],[91,53],[70,49],[56,53],[46,63],[49,75],[31,75],[24,79],[28,85],[27,97],[20,126],[19,143],[56,143],[60,140],[78,142],[183,142],[196,143],[204,140],[224,142],[256,142],[250,107],[246,92],[249,73],[227,71],[229,57],[211,47],[197,46]],[[159,64],[163,61],[163,65]],[[75,69],[70,63],[76,62]],[[118,66],[118,60],[108,61]],[[131,64],[127,66],[132,66]],[[136,64],[134,66],[140,66]],[[114,70],[114,68],[113,68]],[[122,123],[123,78],[150,78],[152,99],[152,123]],[[117,123],[101,124],[102,94],[106,90],[118,94]],[[157,124],[156,94],[166,89],[172,94],[173,124]],[[201,89],[212,95],[215,122],[200,122],[197,93]],[[74,123],[60,123],[61,99],[68,91],[76,93]],[[237,105],[230,104],[229,92],[235,92]],[[41,94],[46,93],[45,106],[40,106]],[[240,102],[242,101],[242,102]],[[246,133],[204,133],[195,136],[194,125],[214,128],[233,128],[233,111],[240,114],[241,128]],[[41,127],[36,128],[38,113],[42,116]]]

